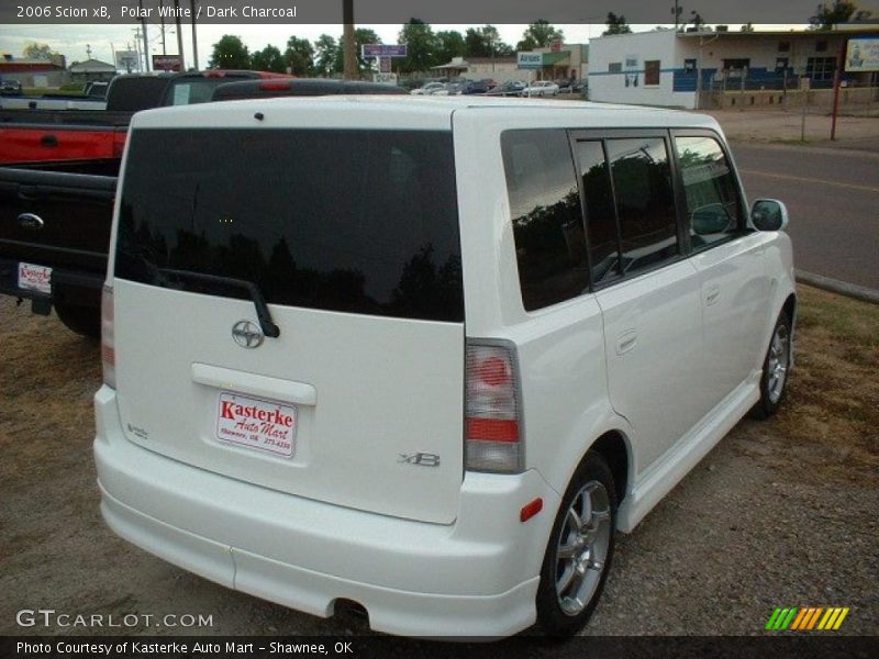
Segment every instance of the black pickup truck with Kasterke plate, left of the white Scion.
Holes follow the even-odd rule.
[[[253,79],[216,86],[204,100],[337,93],[404,91],[371,82]],[[54,306],[68,328],[100,336],[119,167],[119,157],[0,166],[0,294],[30,300],[38,314]]]

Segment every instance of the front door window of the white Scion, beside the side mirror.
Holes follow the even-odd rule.
[[[693,249],[742,232],[743,213],[732,167],[713,137],[676,137]]]

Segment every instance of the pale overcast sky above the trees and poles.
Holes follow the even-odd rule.
[[[357,25],[374,30],[382,43],[397,43],[397,34],[400,25]],[[441,30],[457,30],[461,34],[471,25],[432,25],[435,32]],[[635,32],[652,30],[655,25],[632,25]],[[15,57],[21,57],[24,47],[29,43],[37,42],[48,44],[53,51],[63,54],[67,63],[82,62],[88,59],[87,49],[91,49],[91,57],[102,62],[112,63],[112,48],[124,51],[134,44],[134,31],[138,23],[130,25],[0,25],[0,54],[10,53]],[[501,38],[515,46],[522,38],[522,33],[527,25],[497,25]],[[588,43],[590,37],[600,36],[605,29],[601,24],[570,24],[556,25],[564,30],[567,43]],[[731,25],[731,30],[737,30],[738,25]],[[758,25],[757,29],[779,29],[793,27],[792,25]],[[802,27],[802,26],[799,26]],[[177,34],[175,26],[168,23],[165,33],[165,48],[167,54],[177,54]],[[182,25],[183,33],[183,57],[186,67],[192,66],[191,27]],[[207,25],[198,26],[198,47],[199,66],[204,68],[211,55],[211,46],[216,43],[224,34],[237,35],[244,41],[245,45],[254,51],[262,51],[271,44],[283,51],[287,40],[292,36],[305,37],[315,41],[321,34],[330,34],[338,37],[342,34],[342,25],[313,25],[313,24],[285,24],[285,25]],[[160,29],[157,22],[147,24],[147,35],[151,43],[151,53],[162,55]]]

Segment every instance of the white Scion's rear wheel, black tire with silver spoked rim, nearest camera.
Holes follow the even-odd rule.
[[[576,554],[577,558],[563,557],[565,554],[560,551],[563,548],[577,546],[572,538],[582,539],[586,537],[583,529],[590,530],[583,524],[580,526],[580,532],[576,533],[574,529],[577,524],[569,517],[571,511],[577,513],[578,506],[582,513],[585,503],[581,498],[585,491],[590,492],[588,494],[590,506],[596,513],[607,513],[607,518],[590,525],[596,529],[593,543],[586,544],[576,551],[568,551]],[[576,635],[594,612],[613,559],[616,505],[613,473],[604,458],[590,450],[565,491],[541,568],[541,583],[537,587],[536,599],[537,625],[547,636],[566,638]],[[602,507],[605,510],[602,511]],[[597,514],[596,517],[600,515]],[[598,569],[596,563],[600,563]],[[580,566],[582,572],[574,568],[576,565]],[[582,576],[571,577],[571,570]],[[567,585],[565,585],[566,578],[570,580]],[[585,602],[575,596],[578,593],[582,595]]]

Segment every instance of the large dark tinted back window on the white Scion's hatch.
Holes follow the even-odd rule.
[[[173,268],[253,281],[275,304],[463,321],[450,133],[141,130],[131,141],[116,277],[246,295],[160,270]]]

